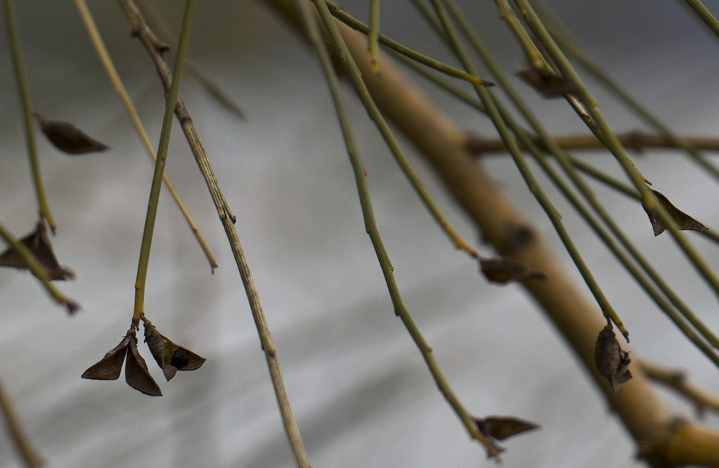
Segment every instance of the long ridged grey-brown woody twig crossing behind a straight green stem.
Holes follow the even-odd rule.
[[[157,74],[160,76],[162,86],[165,90],[170,88],[170,70],[162,60],[162,55],[155,49],[155,42],[153,42],[152,32],[145,24],[142,19],[142,15],[139,14],[137,6],[132,3],[132,0],[118,0],[125,14],[129,20],[132,31],[142,42],[142,45],[147,50],[147,53],[152,58],[152,62],[155,64]],[[280,369],[280,362],[277,357],[277,350],[275,349],[275,343],[270,334],[270,328],[267,326],[267,319],[265,313],[262,311],[262,304],[260,303],[260,294],[255,288],[255,281],[252,279],[252,273],[249,270],[247,263],[247,257],[245,257],[242,250],[242,245],[239,242],[237,235],[237,229],[234,227],[237,218],[232,214],[227,202],[222,194],[217,178],[215,177],[214,170],[209,161],[209,157],[203,147],[203,144],[198,137],[195,125],[193,124],[192,118],[187,111],[185,103],[182,98],[178,96],[177,106],[175,107],[175,115],[180,121],[183,132],[185,134],[188,143],[190,144],[193,155],[196,159],[198,167],[201,170],[203,178],[205,178],[206,184],[209,188],[212,201],[215,204],[215,208],[219,215],[222,226],[224,227],[227,239],[229,240],[230,247],[235,262],[237,263],[237,269],[239,275],[242,277],[242,284],[247,293],[247,300],[249,301],[249,307],[252,310],[252,317],[255,319],[255,326],[257,326],[257,334],[260,336],[260,344],[262,350],[265,352],[265,359],[267,360],[267,367],[270,370],[270,378],[273,382],[273,388],[275,390],[275,396],[278,400],[280,407],[280,414],[283,420],[283,426],[287,433],[290,447],[295,456],[296,464],[298,468],[310,468],[310,462],[307,458],[307,453],[302,443],[300,431],[297,426],[297,422],[293,415],[292,405],[290,405],[290,399],[285,390],[285,384],[283,382],[282,370]]]

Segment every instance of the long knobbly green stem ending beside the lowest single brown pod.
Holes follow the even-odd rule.
[[[304,0],[298,0],[296,3],[298,9],[300,9],[301,16],[303,17],[304,27],[308,32],[309,40],[311,41],[317,51],[317,54],[319,55],[322,70],[324,72],[332,99],[334,101],[334,106],[336,109],[339,124],[342,128],[344,142],[347,146],[347,154],[349,155],[349,160],[352,163],[352,170],[354,170],[354,180],[355,183],[357,183],[357,193],[359,194],[359,203],[362,206],[362,216],[365,219],[365,228],[367,230],[367,234],[370,235],[372,246],[375,248],[377,260],[379,260],[380,262],[380,267],[382,268],[385,282],[387,283],[387,287],[390,292],[390,298],[392,299],[395,314],[399,316],[400,319],[403,321],[403,324],[405,324],[407,330],[412,336],[412,339],[415,341],[417,347],[419,348],[422,357],[425,359],[425,362],[429,367],[432,377],[434,377],[437,387],[439,387],[439,390],[441,391],[442,395],[444,395],[444,398],[446,398],[447,402],[452,406],[452,408],[454,408],[455,412],[457,413],[457,416],[459,416],[459,419],[464,423],[464,426],[470,433],[470,436],[472,436],[473,439],[477,439],[477,441],[480,441],[480,443],[486,447],[487,454],[499,460],[498,448],[492,443],[492,441],[488,440],[482,433],[477,431],[477,426],[474,421],[472,421],[472,415],[464,408],[464,405],[462,405],[462,403],[459,401],[459,398],[457,398],[457,396],[452,391],[452,388],[449,386],[449,382],[447,382],[446,378],[439,369],[439,364],[436,362],[436,359],[434,359],[431,347],[429,347],[429,344],[427,344],[426,340],[417,328],[409,311],[403,303],[403,300],[399,293],[399,288],[395,281],[393,267],[390,262],[389,255],[382,242],[380,231],[379,229],[377,229],[375,215],[372,210],[372,201],[370,200],[370,191],[369,188],[367,188],[365,166],[362,163],[362,157],[359,155],[359,149],[354,139],[354,133],[352,132],[352,124],[350,124],[349,114],[347,114],[347,109],[344,106],[344,101],[342,100],[342,91],[340,91],[339,89],[339,81],[337,79],[336,72],[332,67],[331,58],[329,58],[329,53],[326,50],[325,42],[320,35],[315,19],[311,17],[306,2]],[[326,18],[331,21],[331,17],[329,17],[329,12],[327,12],[326,10],[324,11],[326,12]]]

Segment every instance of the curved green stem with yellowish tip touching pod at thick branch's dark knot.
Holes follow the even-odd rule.
[[[325,1],[321,1],[320,3],[319,1],[315,0],[315,4],[318,9],[320,9],[320,5],[324,5],[323,10],[327,10],[329,14],[329,9],[327,8]],[[403,151],[399,146],[399,143],[397,142],[397,139],[392,133],[392,130],[390,130],[390,127],[385,121],[385,118],[380,113],[380,110],[377,109],[375,101],[372,100],[372,96],[370,96],[370,91],[367,90],[367,85],[365,85],[365,82],[362,81],[362,73],[359,71],[359,68],[357,68],[357,63],[354,62],[352,55],[349,53],[349,50],[347,50],[347,45],[344,43],[344,40],[342,40],[342,35],[340,35],[336,24],[334,24],[331,17],[322,17],[322,21],[324,22],[326,29],[330,33],[331,40],[334,42],[335,47],[337,47],[337,49],[340,51],[342,63],[344,64],[344,68],[347,71],[347,78],[349,78],[349,81],[352,83],[352,86],[354,86],[354,91],[357,93],[359,100],[362,101],[362,105],[365,106],[367,114],[370,114],[370,118],[372,119],[372,121],[375,122],[377,130],[385,139],[385,142],[390,148],[392,155],[395,157],[395,160],[402,169],[403,173],[406,175],[406,177],[412,184],[414,190],[421,198],[424,205],[432,214],[432,216],[434,216],[434,219],[436,220],[437,224],[439,224],[441,229],[444,230],[447,237],[452,240],[454,246],[458,249],[464,250],[464,252],[469,254],[470,257],[479,259],[479,254],[477,253],[477,250],[472,247],[469,242],[462,239],[462,236],[459,235],[457,229],[454,229],[454,226],[452,226],[452,224],[447,221],[447,219],[444,217],[444,214],[442,214],[441,210],[439,209],[439,206],[436,205],[434,200],[429,195],[429,192],[424,187],[422,180],[416,174],[416,172],[412,168],[412,165],[405,157]]]

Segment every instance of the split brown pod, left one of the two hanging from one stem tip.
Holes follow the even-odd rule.
[[[111,349],[99,362],[91,365],[83,372],[83,379],[117,380],[125,363],[125,381],[127,385],[145,395],[162,396],[160,387],[147,369],[145,359],[137,350],[137,336],[134,329],[129,329],[120,344]]]

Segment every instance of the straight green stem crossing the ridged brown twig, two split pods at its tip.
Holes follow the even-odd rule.
[[[150,247],[152,246],[152,233],[155,230],[155,218],[157,217],[157,203],[160,200],[160,187],[162,186],[162,174],[165,172],[165,162],[168,158],[168,147],[170,146],[170,132],[173,127],[175,106],[180,93],[180,81],[182,80],[183,66],[190,44],[192,22],[195,16],[197,0],[187,0],[185,5],[185,16],[183,17],[178,52],[175,56],[175,68],[173,70],[173,81],[170,84],[168,101],[165,106],[165,117],[162,121],[162,133],[160,144],[157,147],[157,160],[155,160],[155,174],[152,176],[152,188],[150,190],[150,201],[147,203],[147,217],[145,218],[145,230],[142,232],[142,247],[139,252],[139,264],[137,265],[137,281],[135,282],[134,313],[132,315],[132,326],[139,328],[140,317],[145,314],[145,281],[147,280],[147,265],[150,263]]]

